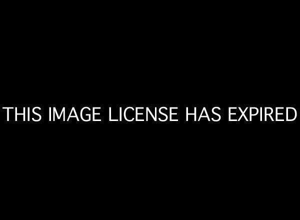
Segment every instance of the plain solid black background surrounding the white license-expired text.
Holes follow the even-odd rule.
[[[1,107],[179,106],[180,122],[2,120],[6,207],[286,214],[297,194],[298,119],[230,123],[226,109],[298,110],[296,14],[262,5],[123,6],[9,10]],[[185,106],[224,113],[219,123],[185,123]]]

